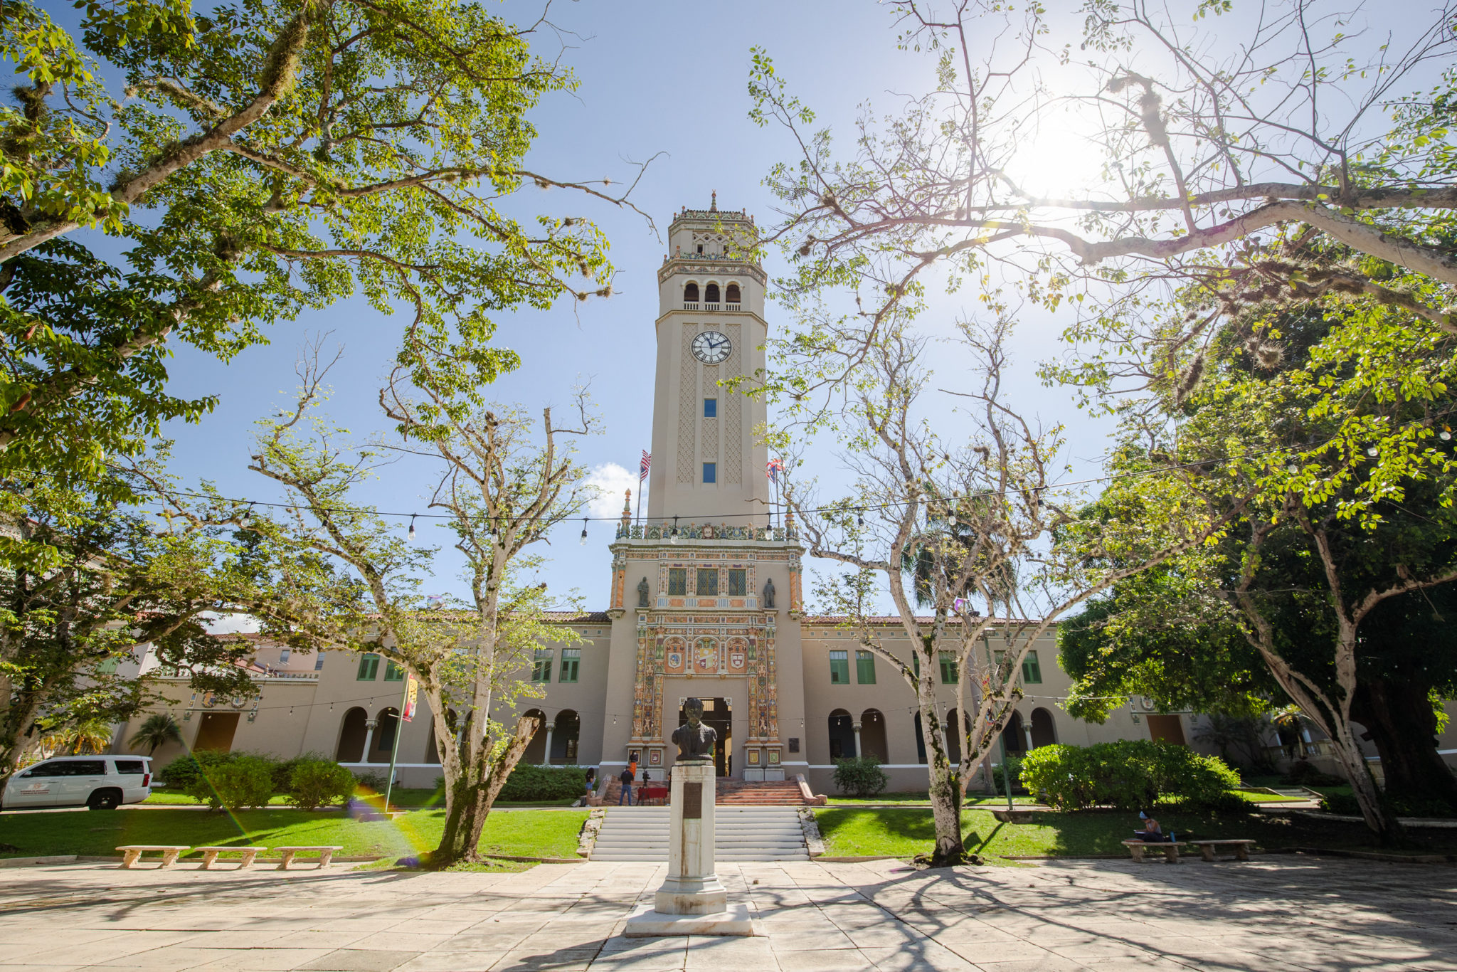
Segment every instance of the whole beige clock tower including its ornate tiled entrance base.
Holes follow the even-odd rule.
[[[804,549],[771,522],[765,405],[724,383],[763,369],[763,290],[743,211],[683,208],[657,271],[657,380],[647,517],[622,510],[612,544],[612,656],[602,767],[638,764],[661,780],[669,739],[698,698],[718,733],[718,775],[787,780],[800,749]],[[610,708],[610,707],[609,707]]]

